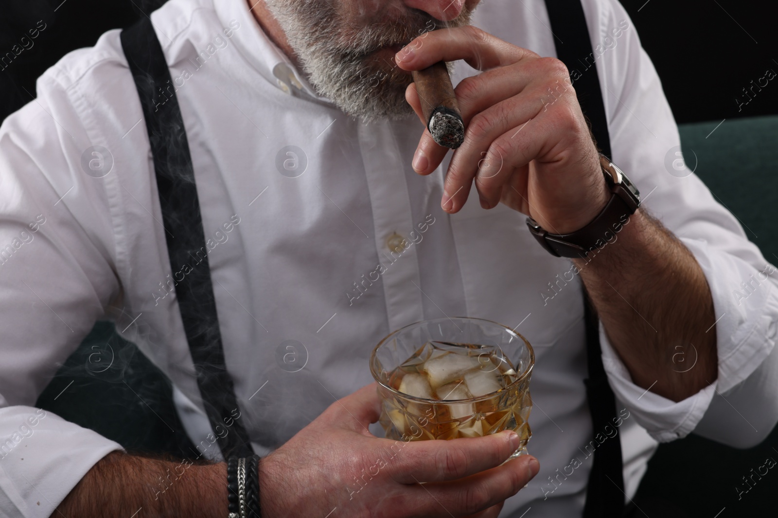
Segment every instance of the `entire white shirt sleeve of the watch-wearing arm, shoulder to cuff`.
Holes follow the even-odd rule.
[[[732,446],[754,446],[778,421],[778,391],[767,385],[778,377],[778,360],[766,360],[778,356],[770,354],[778,330],[778,272],[696,174],[677,169],[679,163],[686,167],[677,161],[678,127],[654,64],[622,5],[606,0],[601,8],[597,30],[590,32],[615,41],[596,61],[613,160],[640,189],[643,207],[682,240],[703,269],[716,312],[709,332],[716,333],[718,353],[717,380],[672,402],[633,384],[601,326],[609,384],[660,442],[694,430]],[[625,26],[614,38],[613,28]],[[592,42],[600,43],[594,36]],[[675,370],[694,368],[695,355],[693,348],[685,352]]]

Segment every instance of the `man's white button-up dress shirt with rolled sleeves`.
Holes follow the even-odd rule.
[[[766,389],[778,375],[770,355],[778,290],[772,266],[697,176],[668,172],[678,130],[622,6],[584,0],[584,12],[613,160],[644,207],[696,256],[718,319],[718,379],[681,402],[633,384],[601,333],[608,380],[629,415],[618,429],[629,498],[657,441],[696,430],[748,447],[769,433],[778,419],[778,394]],[[593,430],[583,297],[578,276],[566,274],[569,260],[541,249],[524,215],[503,205],[483,210],[475,189],[459,213],[444,214],[448,158],[430,176],[411,168],[419,120],[345,116],[310,89],[245,0],[171,0],[151,18],[177,87],[211,239],[226,364],[257,453],[370,383],[370,352],[392,330],[443,315],[489,318],[515,327],[536,355],[528,450],[541,471],[501,516],[529,507],[535,518],[580,516]],[[542,0],[484,2],[474,24],[555,56]],[[475,73],[459,63],[454,83]],[[103,162],[93,147],[103,148],[96,149]],[[165,289],[175,273],[161,221],[135,83],[119,32],[110,31],[49,69],[37,99],[0,128],[3,516],[49,516],[96,461],[121,448],[33,406],[98,318],[114,318],[170,376],[188,433],[205,457],[219,458],[175,294]],[[408,246],[392,255],[402,238]],[[559,478],[574,457],[580,465]],[[351,482],[342,481],[342,516]]]

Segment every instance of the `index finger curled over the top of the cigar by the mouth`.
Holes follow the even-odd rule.
[[[468,25],[423,33],[395,54],[394,61],[399,68],[412,71],[422,70],[438,61],[462,59],[472,68],[485,71],[531,56],[538,57],[538,54]]]

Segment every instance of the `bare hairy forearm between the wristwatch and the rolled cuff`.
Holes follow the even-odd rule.
[[[675,402],[712,383],[713,298],[689,249],[639,209],[594,252],[573,262],[633,382]]]

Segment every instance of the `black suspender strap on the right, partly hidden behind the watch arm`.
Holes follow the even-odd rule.
[[[594,66],[591,40],[584,8],[580,0],[545,0],[548,19],[554,33],[557,58],[567,65],[578,103],[591,123],[591,132],[603,155],[611,157],[608,119],[602,100],[600,80]],[[584,71],[580,71],[584,68]],[[573,70],[577,73],[573,74]],[[605,433],[613,427],[616,417],[615,396],[608,385],[602,366],[598,318],[591,300],[584,291],[586,319],[587,365],[589,377],[584,380],[594,433]],[[620,517],[624,513],[624,478],[622,446],[619,437],[605,440],[594,452],[594,461],[587,486],[584,518]]]

